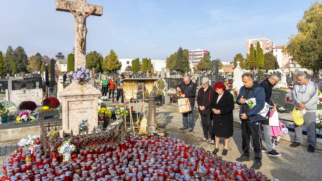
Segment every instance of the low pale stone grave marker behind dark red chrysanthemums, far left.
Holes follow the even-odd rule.
[[[16,105],[24,101],[33,101],[40,106],[42,98],[42,88],[6,90],[7,101],[11,101]]]

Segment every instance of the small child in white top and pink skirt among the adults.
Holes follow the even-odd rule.
[[[271,109],[270,111],[270,119],[269,119],[269,124],[271,127],[271,136],[272,138],[275,138],[273,142],[273,148],[278,145],[280,142],[281,138],[281,128],[280,128],[280,123],[278,119],[278,113],[275,108]]]

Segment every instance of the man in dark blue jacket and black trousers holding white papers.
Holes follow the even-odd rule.
[[[261,139],[261,122],[265,117],[259,114],[265,106],[265,91],[262,86],[254,82],[252,73],[244,73],[244,86],[239,90],[236,103],[240,105],[240,119],[241,119],[241,136],[243,138],[243,152],[236,160],[239,162],[250,161],[250,136],[252,135],[253,147],[255,154],[255,162],[253,164],[255,169],[262,166],[262,139]],[[256,105],[250,106],[246,103],[248,99],[255,98]]]

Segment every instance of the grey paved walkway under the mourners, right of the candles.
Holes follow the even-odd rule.
[[[192,133],[188,131],[179,131],[182,127],[182,115],[172,110],[157,108],[157,120],[160,127],[166,128],[169,136],[186,141],[205,148],[212,152],[214,146],[210,145],[210,141],[203,143],[203,131],[201,128],[201,120],[197,119],[195,128]],[[269,157],[263,153],[263,166],[259,171],[263,172],[270,178],[279,178],[280,180],[321,180],[320,172],[322,170],[321,158],[322,153],[315,151],[308,153],[306,147],[289,147],[288,142],[281,142],[277,147],[277,151],[282,154],[280,157]],[[265,143],[264,143],[265,145]],[[219,145],[219,156],[223,149],[223,142]],[[228,153],[222,156],[225,160],[235,160],[241,154],[241,130],[234,129],[232,139],[228,145]],[[253,164],[254,154],[251,150],[252,161],[245,162],[248,166]]]

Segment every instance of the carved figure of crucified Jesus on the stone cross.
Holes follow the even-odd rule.
[[[87,34],[87,28],[86,28],[86,18],[89,17],[90,15],[92,15],[95,11],[96,11],[96,7],[93,8],[93,10],[91,10],[88,14],[85,13],[85,15],[83,15],[83,13],[79,10],[76,10],[75,12],[70,8],[69,3],[66,2],[65,6],[68,8],[68,10],[70,11],[70,13],[72,13],[74,15],[74,17],[76,18],[76,30],[79,34],[79,36],[81,37],[81,48],[82,48],[82,53],[85,53],[85,41],[86,41],[86,34]]]

